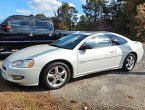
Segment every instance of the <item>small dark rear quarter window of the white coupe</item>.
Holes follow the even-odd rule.
[[[125,44],[127,43],[127,40],[119,37],[119,36],[116,36],[116,35],[108,35],[108,37],[111,39],[112,43],[114,45],[122,45],[122,44]]]

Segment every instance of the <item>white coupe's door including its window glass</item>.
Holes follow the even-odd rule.
[[[83,45],[89,45],[92,49],[78,50],[78,73],[109,69],[113,66],[115,59],[115,46],[111,40],[103,34],[93,36]]]

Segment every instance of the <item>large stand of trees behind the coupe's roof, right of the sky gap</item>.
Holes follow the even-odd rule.
[[[78,30],[113,31],[134,40],[144,36],[144,0],[86,0]],[[138,7],[138,8],[137,8]],[[141,8],[142,7],[142,8]],[[142,20],[141,20],[142,19]]]

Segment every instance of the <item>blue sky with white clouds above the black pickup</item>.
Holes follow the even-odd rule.
[[[62,2],[68,2],[70,6],[75,7],[78,16],[83,14],[82,4],[85,4],[85,0],[0,0],[0,19],[10,15],[38,13],[51,17]]]

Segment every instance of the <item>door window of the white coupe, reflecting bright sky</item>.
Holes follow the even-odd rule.
[[[83,45],[89,45],[92,48],[112,46],[111,40],[104,35],[97,35],[88,39]]]

